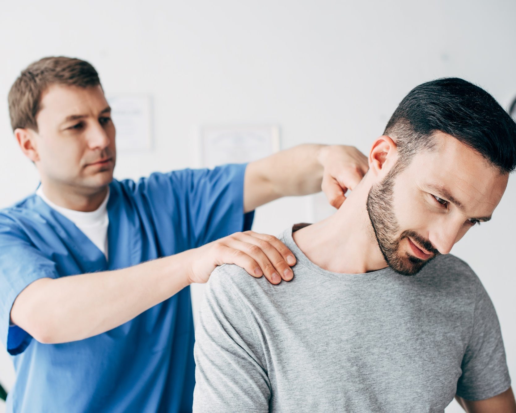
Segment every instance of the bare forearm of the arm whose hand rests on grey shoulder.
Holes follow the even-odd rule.
[[[37,280],[14,301],[11,320],[43,343],[103,333],[188,285],[189,253],[120,270]]]

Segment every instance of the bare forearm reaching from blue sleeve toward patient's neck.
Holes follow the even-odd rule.
[[[319,192],[324,168],[318,157],[325,146],[299,145],[251,162],[246,170],[245,210],[282,196]]]

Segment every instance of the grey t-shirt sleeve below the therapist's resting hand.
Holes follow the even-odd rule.
[[[210,277],[199,311],[193,412],[268,412],[270,384],[257,341],[257,326],[231,291],[222,266]]]

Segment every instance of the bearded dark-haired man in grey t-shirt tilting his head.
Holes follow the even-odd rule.
[[[414,88],[338,211],[281,236],[293,281],[214,271],[193,410],[442,412],[455,396],[467,411],[516,412],[491,300],[446,255],[490,220],[515,166],[516,125],[486,91]]]

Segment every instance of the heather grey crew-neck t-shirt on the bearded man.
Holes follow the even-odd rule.
[[[414,277],[313,264],[292,230],[294,279],[234,265],[208,282],[196,331],[193,411],[442,412],[510,386],[491,300],[467,264],[439,256]]]

